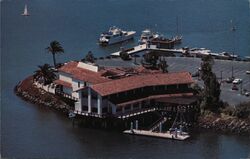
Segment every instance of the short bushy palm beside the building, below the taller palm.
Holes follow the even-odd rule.
[[[39,69],[36,70],[35,74],[33,75],[34,81],[38,81],[44,85],[47,85],[56,79],[55,70],[49,64],[44,64],[38,67]]]

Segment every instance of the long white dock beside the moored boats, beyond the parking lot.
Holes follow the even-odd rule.
[[[158,48],[156,45],[148,45],[142,44],[135,46],[133,48],[128,49],[126,51],[129,55],[145,52],[145,51],[161,51],[161,52],[169,52],[169,53],[183,53],[183,49],[164,49],[164,48]],[[120,56],[121,51],[117,51],[114,53],[111,53],[111,56]]]

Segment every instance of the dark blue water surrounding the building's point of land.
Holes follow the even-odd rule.
[[[30,17],[23,17],[24,4]],[[62,114],[16,97],[13,87],[37,65],[52,64],[45,51],[58,40],[65,54],[59,62],[83,58],[91,50],[107,56],[120,45],[101,48],[98,35],[116,25],[138,32],[150,28],[176,33],[182,46],[214,52],[250,53],[250,7],[247,0],[2,0],[1,1],[1,155],[7,158],[246,158],[250,138],[199,133],[185,142],[133,137],[117,132],[72,128]],[[236,32],[230,32],[230,20]]]

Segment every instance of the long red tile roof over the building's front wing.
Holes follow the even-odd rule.
[[[102,96],[124,92],[145,86],[189,84],[193,83],[188,72],[156,73],[134,75],[122,79],[92,85],[92,89]]]

